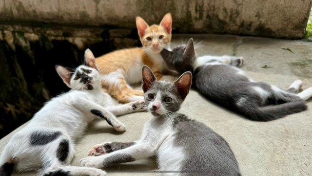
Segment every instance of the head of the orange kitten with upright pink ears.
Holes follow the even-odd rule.
[[[159,53],[171,41],[172,17],[168,13],[159,25],[149,26],[142,18],[137,17],[137,31],[140,41],[147,52]]]

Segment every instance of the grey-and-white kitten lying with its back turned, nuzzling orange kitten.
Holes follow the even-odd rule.
[[[254,82],[236,66],[242,57],[195,56],[193,40],[173,51],[161,51],[166,65],[179,73],[192,71],[195,87],[210,100],[257,121],[269,121],[307,109],[305,100],[312,96],[312,88],[301,93],[302,82],[295,81],[285,91],[263,82]]]

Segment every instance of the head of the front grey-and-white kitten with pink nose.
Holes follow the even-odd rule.
[[[148,66],[142,68],[142,88],[147,109],[154,116],[161,116],[180,109],[192,84],[191,72],[182,74],[174,83],[157,81]]]

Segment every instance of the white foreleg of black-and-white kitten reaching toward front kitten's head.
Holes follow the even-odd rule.
[[[106,109],[114,115],[124,115],[132,112],[146,111],[146,106],[144,100],[138,100],[123,105],[110,106]]]

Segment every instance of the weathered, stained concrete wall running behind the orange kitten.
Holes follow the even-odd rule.
[[[302,38],[312,0],[0,0],[0,22],[135,28],[135,17],[174,32]]]

